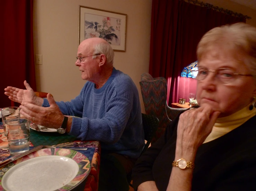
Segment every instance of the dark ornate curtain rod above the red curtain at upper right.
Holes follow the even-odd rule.
[[[185,0],[184,0],[185,1]],[[224,12],[226,14],[230,14],[230,15],[234,15],[235,17],[240,17],[240,18],[243,18],[243,19],[251,19],[251,17],[247,16],[247,15],[243,15],[242,13],[237,13],[237,12],[233,12],[231,10],[228,10],[228,9],[223,9],[223,8],[219,8],[218,6],[213,6],[212,4],[210,3],[204,3],[203,1],[198,1],[198,0],[187,0],[189,3],[192,1],[194,4],[200,4],[201,7],[204,6],[204,7],[207,7],[208,9],[214,9],[215,11],[220,11],[220,12]]]

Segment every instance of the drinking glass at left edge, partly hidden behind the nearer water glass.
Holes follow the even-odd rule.
[[[6,125],[5,125],[5,120],[12,119],[12,118],[20,118],[20,109],[19,107],[7,107],[7,108],[2,108],[1,113],[2,113],[2,122],[3,122],[3,132],[5,136],[7,137],[7,131],[6,131]]]

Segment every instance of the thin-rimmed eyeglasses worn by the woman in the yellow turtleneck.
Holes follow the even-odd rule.
[[[235,80],[238,76],[254,76],[252,74],[238,74],[229,68],[219,68],[218,70],[208,70],[204,67],[198,67],[196,80],[204,80],[209,72],[214,72],[216,77],[221,83],[229,83]]]

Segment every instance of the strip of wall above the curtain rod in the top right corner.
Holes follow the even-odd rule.
[[[242,13],[244,15],[250,16],[252,19],[246,20],[246,23],[256,27],[256,10],[255,9],[245,7],[241,4],[238,4],[230,0],[203,0],[203,2],[210,3],[220,8],[229,9],[233,12],[238,12],[238,13]]]

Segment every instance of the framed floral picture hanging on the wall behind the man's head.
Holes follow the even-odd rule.
[[[85,39],[105,39],[114,51],[125,52],[127,14],[80,6],[78,45]]]

